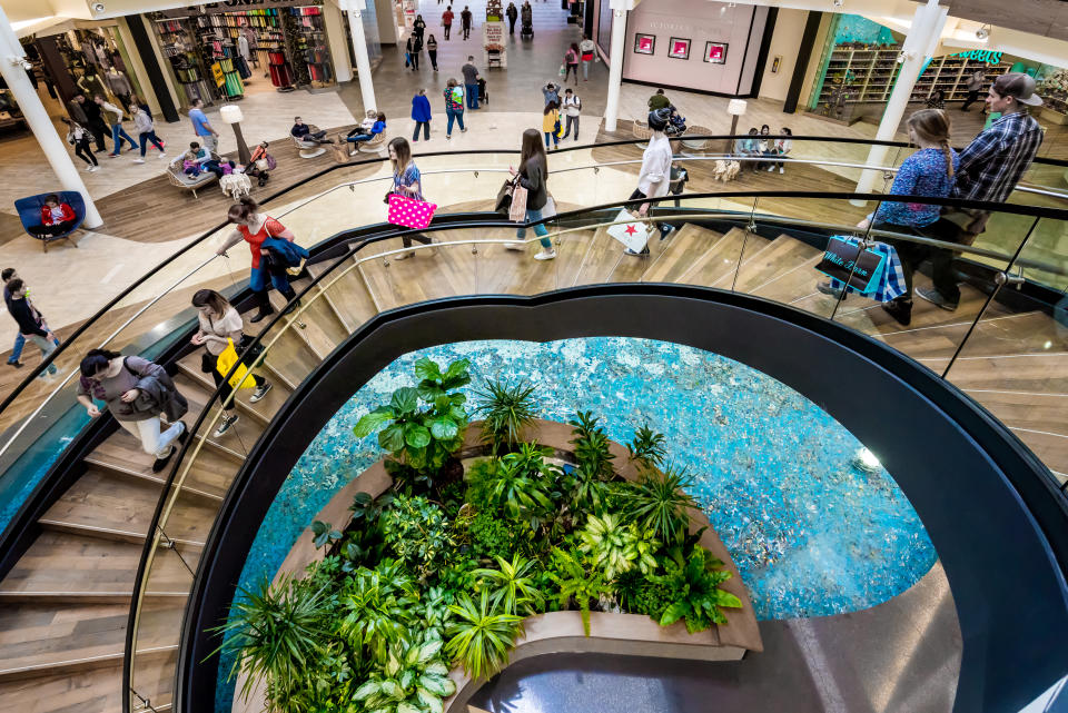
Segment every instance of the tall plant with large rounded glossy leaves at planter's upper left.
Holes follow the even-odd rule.
[[[353,433],[364,438],[380,428],[378,445],[394,458],[419,472],[438,473],[464,442],[467,397],[454,389],[471,382],[469,365],[468,359],[453,362],[443,373],[435,362],[419,359],[419,385],[395,390],[389,403],[365,414]],[[429,407],[419,408],[421,402]]]

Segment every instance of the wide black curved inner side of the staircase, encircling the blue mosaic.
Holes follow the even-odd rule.
[[[277,487],[354,388],[395,356],[434,344],[602,335],[676,341],[734,358],[815,400],[880,454],[928,527],[950,581],[965,647],[955,711],[1019,710],[1064,674],[1068,508],[1035,499],[1049,473],[997,419],[891,347],[787,305],[685,285],[599,285],[382,313],[313,370],[253,447],[201,554],[182,624],[177,710],[211,704],[217,665],[205,657],[215,643],[204,632],[225,615]],[[770,341],[791,349],[761,346]],[[813,362],[824,368],[805,366]],[[841,388],[843,373],[886,406],[882,420],[874,423],[869,405]],[[1017,587],[1027,590],[1027,606],[1005,615],[1001,592]]]

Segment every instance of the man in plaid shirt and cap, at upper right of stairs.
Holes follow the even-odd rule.
[[[953,198],[1005,202],[1031,165],[1042,142],[1038,122],[1027,107],[1041,106],[1035,93],[1035,80],[1020,72],[1001,75],[990,86],[987,106],[1000,111],[1001,118],[977,136],[960,154]],[[947,208],[942,218],[930,228],[931,237],[948,242],[971,245],[986,229],[990,214],[986,210]],[[917,288],[923,299],[952,311],[960,303],[960,288],[953,276],[953,250],[933,248],[931,269],[933,289]]]

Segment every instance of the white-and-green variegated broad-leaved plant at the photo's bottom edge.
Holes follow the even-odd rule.
[[[376,713],[442,713],[456,692],[441,655],[442,640],[431,632],[414,643],[389,646],[385,665],[360,684],[353,699]]]

